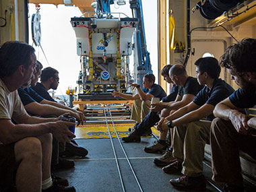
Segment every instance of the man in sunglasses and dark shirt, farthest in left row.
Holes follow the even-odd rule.
[[[38,64],[41,65],[40,71],[38,71],[34,80],[32,80],[31,87],[25,89],[28,92],[28,94],[30,94],[30,96],[32,96],[33,98],[34,94],[32,94],[32,92],[35,91],[39,96],[43,98],[40,104],[51,104],[52,106],[57,106],[58,108],[71,110],[74,113],[78,113],[80,118],[84,119],[85,121],[86,119],[82,112],[79,112],[78,110],[75,110],[61,103],[58,103],[50,96],[48,90],[50,89],[57,90],[59,86],[59,71],[57,71],[56,69],[53,69],[52,67],[46,67],[45,69],[42,70],[42,73],[41,73],[42,64],[39,61],[38,61]],[[39,77],[40,77],[41,83],[38,82]],[[26,108],[26,104],[24,105]],[[32,102],[31,105],[36,106],[36,103]],[[61,143],[60,143],[60,148],[61,148],[60,149],[61,156],[65,156],[65,157],[72,157],[72,156],[84,157],[88,154],[88,151],[85,148],[79,147],[74,139],[71,139],[70,143],[66,143],[65,150],[63,149],[63,145]]]

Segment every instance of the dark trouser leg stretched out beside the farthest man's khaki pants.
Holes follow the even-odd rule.
[[[143,133],[146,133],[151,127],[156,125],[158,121],[160,121],[158,113],[150,111],[141,123],[135,125],[134,128],[136,129],[137,135],[143,135]]]

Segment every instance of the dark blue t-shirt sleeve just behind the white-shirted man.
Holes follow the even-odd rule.
[[[44,100],[44,98],[38,95],[34,90],[32,90],[32,88],[19,88],[18,93],[24,106],[31,102],[41,102]]]

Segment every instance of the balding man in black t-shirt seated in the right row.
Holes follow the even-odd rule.
[[[189,102],[195,98],[195,95],[201,90],[202,86],[200,86],[197,83],[197,79],[194,77],[189,77],[187,75],[187,71],[183,65],[173,65],[170,68],[169,71],[169,76],[172,77],[172,82],[179,86],[178,90],[178,95],[177,98],[173,102],[160,102],[158,104],[152,104],[152,106],[159,106],[156,108],[152,108],[152,111],[158,112],[161,111],[163,108],[166,108],[168,110],[168,113],[170,113],[170,110],[177,110],[181,108],[182,106],[185,106]],[[167,116],[166,113],[164,114],[164,117]],[[151,114],[152,115],[152,114]],[[152,119],[152,124],[148,126],[145,123],[140,123],[139,125],[135,126],[135,130],[128,136],[128,137],[123,137],[123,141],[126,142],[132,142],[132,141],[140,141],[140,136],[142,133],[144,133],[146,130],[150,129],[155,123],[157,123],[160,118],[158,115],[155,115],[155,118]],[[153,124],[154,123],[154,124]],[[166,135],[165,135],[166,136]],[[146,152],[159,152],[159,151],[164,151],[167,148],[166,145],[166,138],[158,140],[156,143],[154,143],[152,146],[146,147],[144,150]]]

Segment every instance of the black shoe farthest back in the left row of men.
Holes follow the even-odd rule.
[[[60,155],[65,157],[73,157],[73,156],[79,156],[79,157],[85,157],[88,154],[88,150],[85,148],[77,146],[72,141],[70,143],[66,143],[65,152],[62,152]]]

